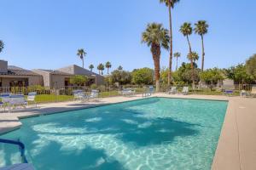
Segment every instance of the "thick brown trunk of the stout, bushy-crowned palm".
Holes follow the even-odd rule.
[[[152,43],[151,53],[154,59],[154,80],[155,80],[155,90],[160,91],[160,45]]]

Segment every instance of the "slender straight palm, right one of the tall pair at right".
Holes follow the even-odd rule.
[[[195,23],[195,33],[201,36],[201,71],[204,71],[204,65],[205,65],[205,46],[204,46],[204,35],[208,32],[208,24],[206,20],[199,20],[197,23]]]

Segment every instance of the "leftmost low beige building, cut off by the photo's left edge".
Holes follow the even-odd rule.
[[[0,60],[0,88],[42,85],[42,76]]]

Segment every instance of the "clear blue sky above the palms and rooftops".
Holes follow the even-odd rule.
[[[0,39],[5,43],[0,59],[26,69],[81,65],[78,48],[88,53],[86,68],[108,60],[113,69],[153,68],[141,34],[154,21],[168,28],[167,8],[159,0],[0,0],[0,4]],[[172,14],[174,52],[182,54],[179,63],[187,61],[189,50],[179,27],[197,20],[210,25],[205,37],[207,68],[244,62],[256,53],[255,7],[255,0],[181,0]],[[190,38],[193,50],[201,54],[200,37]],[[162,51],[161,67],[167,65],[168,53]]]

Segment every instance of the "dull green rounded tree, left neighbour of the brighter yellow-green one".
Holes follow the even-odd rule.
[[[119,82],[120,85],[131,83],[131,72],[115,70],[111,73],[111,82]]]

